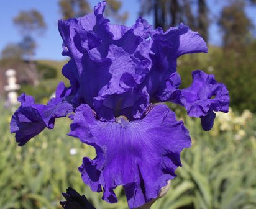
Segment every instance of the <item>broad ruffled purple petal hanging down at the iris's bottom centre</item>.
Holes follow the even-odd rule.
[[[97,156],[83,159],[83,181],[107,202],[117,202],[114,188],[123,185],[129,208],[156,198],[181,166],[180,152],[191,145],[183,122],[165,105],[157,105],[141,120],[101,122],[84,104],[76,109],[70,136],[94,146]],[[150,171],[150,172],[149,172]]]

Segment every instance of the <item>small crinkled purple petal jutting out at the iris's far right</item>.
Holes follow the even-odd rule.
[[[201,117],[203,129],[213,127],[214,112],[228,112],[229,92],[227,87],[218,83],[213,74],[193,71],[193,82],[190,87],[181,90],[182,105],[190,117]]]

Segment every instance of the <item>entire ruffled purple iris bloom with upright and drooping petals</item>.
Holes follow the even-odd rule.
[[[175,102],[188,115],[201,118],[204,130],[213,126],[216,111],[227,112],[229,94],[213,75],[193,72],[193,83],[179,89],[176,60],[186,53],[206,53],[203,38],[180,24],[166,32],[153,29],[141,17],[134,25],[112,25],[103,16],[106,2],[85,17],[60,20],[62,55],[69,56],[62,73],[70,87],[57,87],[47,105],[22,94],[11,120],[11,132],[24,145],[55,118],[70,112],[70,136],[96,149],[79,167],[85,184],[103,191],[103,200],[117,202],[122,185],[129,208],[158,197],[181,166],[180,153],[191,146],[188,130],[164,104]]]

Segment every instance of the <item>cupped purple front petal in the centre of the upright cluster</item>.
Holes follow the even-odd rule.
[[[139,71],[140,64],[134,64],[134,60],[126,51],[116,45],[110,45],[107,58],[91,60],[89,56],[84,55],[82,62],[83,66],[87,67],[79,81],[82,96],[87,104],[94,107],[100,118],[112,120],[116,112],[134,106],[132,101],[137,102],[140,94],[132,93],[142,91],[136,89],[142,81],[144,73],[141,71],[144,69],[142,66]]]

